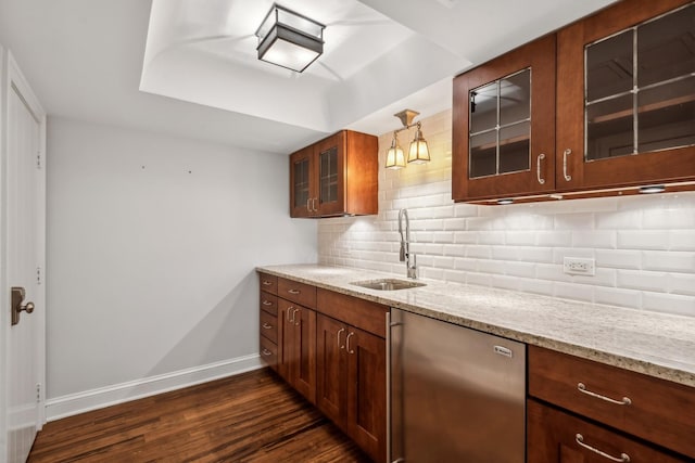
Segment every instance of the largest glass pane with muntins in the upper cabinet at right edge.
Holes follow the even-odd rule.
[[[695,5],[585,48],[585,160],[695,145]]]

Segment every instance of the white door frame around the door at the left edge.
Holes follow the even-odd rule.
[[[13,88],[15,90],[13,90]],[[38,382],[41,385],[38,395],[37,430],[46,423],[46,112],[40,105],[26,78],[22,74],[10,50],[0,44],[0,459],[7,456],[9,450],[7,437],[7,406],[8,406],[8,347],[10,334],[10,280],[8,274],[9,249],[9,187],[8,187],[8,119],[10,92],[16,91],[33,113],[39,125],[39,152],[37,153],[37,285],[31,300],[36,310],[31,314],[37,324],[36,359]]]

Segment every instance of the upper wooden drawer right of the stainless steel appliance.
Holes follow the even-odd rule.
[[[695,389],[529,346],[529,395],[695,458]]]

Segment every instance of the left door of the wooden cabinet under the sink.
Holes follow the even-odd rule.
[[[344,324],[319,314],[316,332],[316,404],[329,419],[345,430],[346,357]]]

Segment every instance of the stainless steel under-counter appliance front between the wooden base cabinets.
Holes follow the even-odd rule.
[[[526,346],[391,309],[391,462],[523,463]]]

